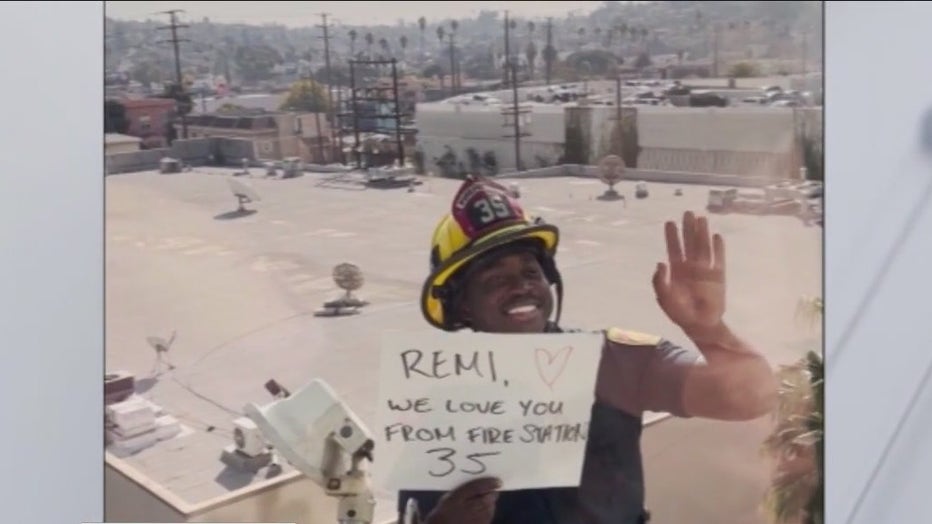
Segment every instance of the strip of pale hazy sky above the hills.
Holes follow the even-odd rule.
[[[279,23],[298,27],[320,23],[319,13],[332,15],[338,23],[394,25],[398,19],[428,22],[449,17],[466,18],[480,10],[508,10],[522,18],[565,16],[576,11],[589,13],[602,2],[106,2],[107,16],[118,19],[157,18],[158,11],[184,9],[182,20],[208,17],[212,22]],[[164,16],[164,15],[163,15]]]

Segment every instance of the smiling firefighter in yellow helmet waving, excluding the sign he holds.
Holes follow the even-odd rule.
[[[596,380],[580,485],[507,490],[480,478],[448,492],[402,491],[426,524],[641,524],[645,411],[750,420],[769,413],[777,384],[767,361],[725,324],[725,245],[708,222],[665,224],[666,263],[652,283],[660,309],[699,352],[612,328]],[[559,230],[532,220],[499,184],[467,179],[432,240],[421,308],[434,327],[487,333],[560,333]],[[551,318],[552,317],[552,318]]]

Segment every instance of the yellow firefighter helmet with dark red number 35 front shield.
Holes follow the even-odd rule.
[[[453,331],[465,327],[449,314],[459,292],[456,277],[472,261],[491,250],[516,242],[538,248],[544,274],[557,286],[557,318],[563,286],[553,256],[560,242],[556,226],[533,219],[502,185],[470,176],[453,198],[450,213],[434,229],[430,249],[430,275],[421,291],[421,312],[432,326]]]

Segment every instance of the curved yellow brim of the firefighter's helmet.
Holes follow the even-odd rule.
[[[436,328],[446,328],[443,303],[440,298],[434,295],[435,289],[443,287],[464,265],[484,253],[525,239],[540,241],[545,253],[548,256],[553,256],[557,251],[557,245],[560,243],[560,233],[556,226],[552,224],[531,226],[519,224],[490,233],[469,248],[450,257],[427,277],[427,281],[424,282],[424,287],[421,290],[421,313],[423,313],[427,322]]]

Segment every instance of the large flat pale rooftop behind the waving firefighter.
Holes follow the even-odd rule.
[[[106,178],[106,367],[135,373],[142,395],[190,430],[123,460],[192,505],[266,480],[227,469],[220,453],[243,405],[272,400],[263,387],[270,378],[292,390],[323,378],[363,420],[373,419],[380,333],[427,328],[417,300],[430,234],[459,186],[426,178],[409,193],[327,182],[330,174],[266,179],[252,169],[236,178],[261,196],[247,206],[257,212],[231,219],[233,172]],[[604,186],[592,179],[516,182],[525,208],[562,231],[563,325],[620,326],[688,343],[657,307],[650,278],[665,257],[663,222],[704,212],[710,186],[650,183],[650,196],[635,199],[634,183],[623,182],[622,203],[597,199]],[[794,329],[794,312],[800,296],[821,294],[822,229],[794,217],[735,214],[712,215],[711,224],[728,253],[727,321],[774,364],[817,349],[817,334]],[[341,262],[360,266],[357,294],[371,305],[355,316],[315,317],[342,293],[331,276]],[[172,332],[168,358],[177,369],[153,376],[146,337]],[[645,452],[651,496],[663,489],[656,464],[678,460],[664,442]],[[736,460],[759,461],[756,449],[741,453]],[[394,496],[379,500],[384,521]]]

